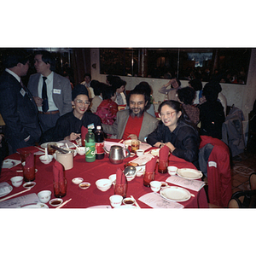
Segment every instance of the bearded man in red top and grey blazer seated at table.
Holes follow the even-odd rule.
[[[116,135],[118,139],[139,139],[144,142],[154,131],[158,120],[146,112],[150,97],[144,90],[131,90],[127,96],[129,109],[120,110],[113,125],[102,124],[103,131]]]

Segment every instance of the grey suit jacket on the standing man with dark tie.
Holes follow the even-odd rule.
[[[32,96],[38,96],[38,83],[40,76],[40,73],[35,73],[32,74],[29,78],[27,88],[31,91]],[[55,105],[60,111],[60,115],[71,112],[73,110],[71,105],[72,89],[69,80],[57,73],[54,73],[53,89],[60,91],[60,93],[54,93],[53,91],[52,94]]]

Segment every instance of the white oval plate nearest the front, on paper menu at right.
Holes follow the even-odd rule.
[[[160,195],[171,201],[188,201],[191,197],[189,190],[175,186],[161,189]]]

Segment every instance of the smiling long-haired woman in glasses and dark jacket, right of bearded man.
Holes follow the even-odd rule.
[[[148,135],[147,143],[157,148],[166,145],[173,155],[192,162],[199,168],[200,137],[195,125],[184,113],[182,104],[175,101],[162,102],[159,113],[160,123]]]

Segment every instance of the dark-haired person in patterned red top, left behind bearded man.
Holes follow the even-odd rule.
[[[116,94],[113,87],[108,87],[102,91],[103,101],[96,111],[96,115],[102,120],[102,124],[113,125],[116,119],[116,113],[119,111],[118,104],[115,101]]]

